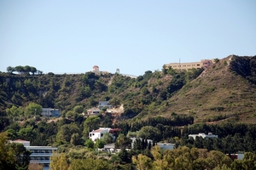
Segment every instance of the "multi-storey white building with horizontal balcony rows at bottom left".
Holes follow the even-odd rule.
[[[26,150],[30,150],[32,154],[30,155],[30,163],[38,163],[43,165],[43,170],[49,170],[50,156],[54,150],[57,150],[55,147],[51,146],[31,146],[30,141],[26,140],[13,140],[10,142],[24,144]]]

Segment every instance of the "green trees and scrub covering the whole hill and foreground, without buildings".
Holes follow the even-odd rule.
[[[256,59],[229,59],[216,59],[207,71],[163,67],[137,78],[93,72],[35,74],[31,66],[9,67],[8,73],[0,73],[0,154],[7,146],[14,149],[6,160],[0,156],[0,167],[9,161],[10,169],[27,169],[27,160],[12,157],[20,146],[6,143],[25,139],[58,147],[53,169],[253,169]],[[100,100],[109,100],[120,112],[103,108],[97,116],[82,115]],[[41,116],[48,107],[60,109],[61,117]],[[88,134],[98,127],[112,127],[116,139],[104,134],[94,143]],[[214,133],[218,139],[189,139],[191,133]],[[141,139],[133,150],[125,150],[131,148],[130,137]],[[156,142],[170,142],[177,149],[163,151]],[[109,143],[121,151],[96,151]],[[246,153],[241,161],[226,156],[238,152]]]

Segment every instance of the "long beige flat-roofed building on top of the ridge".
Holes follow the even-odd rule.
[[[209,65],[212,65],[211,59],[201,59],[199,62],[191,62],[191,63],[170,63],[166,64],[165,67],[168,69],[171,67],[172,69],[181,69],[181,70],[189,70],[192,68],[201,69],[207,68]]]

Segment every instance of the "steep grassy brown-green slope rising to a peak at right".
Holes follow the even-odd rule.
[[[189,82],[168,100],[170,112],[195,116],[196,122],[221,119],[256,122],[256,57],[230,55]]]

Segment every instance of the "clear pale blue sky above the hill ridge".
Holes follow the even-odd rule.
[[[230,54],[256,55],[254,0],[0,1],[0,71],[139,76]]]

